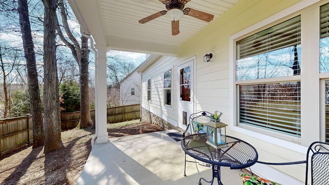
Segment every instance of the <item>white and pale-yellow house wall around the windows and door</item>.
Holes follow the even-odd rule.
[[[242,0],[192,39],[180,46],[177,57],[161,57],[147,69],[142,71],[142,107],[162,119],[177,124],[177,65],[195,56],[195,110],[223,112],[222,121],[229,125],[228,135],[241,138],[253,146],[259,153],[259,160],[270,162],[286,162],[305,160],[305,153],[310,142],[323,140],[320,132],[320,74],[319,62],[319,7],[329,3],[317,0],[289,1],[255,1]],[[246,36],[251,32],[261,31],[262,27],[270,27],[287,20],[289,17],[301,15],[302,51],[301,65],[301,124],[300,139],[288,140],[270,136],[236,126],[236,102],[234,90],[234,39]],[[184,21],[184,18],[181,20]],[[204,63],[203,56],[214,52],[211,62]],[[173,67],[173,99],[172,109],[163,106],[162,73]],[[152,80],[152,101],[147,101],[146,82]],[[323,124],[322,124],[323,125]],[[321,129],[321,130],[320,130]],[[283,167],[255,164],[251,170],[263,177],[284,184],[303,184],[305,165],[288,165]],[[239,177],[237,177],[239,178]]]

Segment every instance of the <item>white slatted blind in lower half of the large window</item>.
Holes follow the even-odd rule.
[[[300,82],[239,87],[241,124],[301,136]]]

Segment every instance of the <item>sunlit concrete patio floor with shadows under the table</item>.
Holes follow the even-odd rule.
[[[184,152],[180,141],[167,133],[175,130],[111,138],[95,144],[77,184],[198,184],[211,179],[211,168],[187,162],[184,177]],[[188,156],[188,160],[194,160]],[[224,184],[242,184],[240,170],[221,168]],[[216,180],[216,179],[215,179]],[[209,184],[202,181],[203,184]],[[217,184],[217,182],[214,182]]]

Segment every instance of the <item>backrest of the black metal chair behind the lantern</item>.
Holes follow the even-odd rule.
[[[206,133],[207,128],[206,128],[205,123],[210,121],[209,117],[211,115],[213,115],[213,114],[206,112],[206,111],[201,111],[198,113],[191,114],[190,119],[189,119],[191,134]]]

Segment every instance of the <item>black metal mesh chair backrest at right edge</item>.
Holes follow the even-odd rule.
[[[307,150],[306,177],[308,178],[308,165],[310,165],[310,176],[312,184],[329,184],[329,144],[314,142]]]

